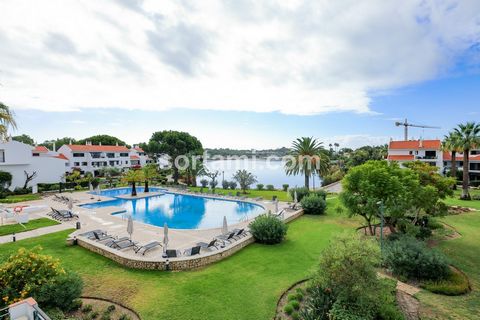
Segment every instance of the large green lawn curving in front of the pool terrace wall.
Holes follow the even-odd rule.
[[[337,199],[326,216],[303,216],[289,224],[279,245],[252,244],[197,271],[130,270],[81,247],[67,247],[62,231],[0,245],[0,262],[20,247],[41,244],[85,281],[84,294],[109,298],[142,319],[271,319],[277,299],[292,283],[315,270],[320,252],[335,234],[356,224],[337,216]]]

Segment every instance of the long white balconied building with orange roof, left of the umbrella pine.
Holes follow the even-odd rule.
[[[128,149],[119,145],[66,144],[58,152],[68,159],[66,172],[79,170],[80,173],[92,172],[95,175],[102,168],[140,168],[150,161],[141,148]]]

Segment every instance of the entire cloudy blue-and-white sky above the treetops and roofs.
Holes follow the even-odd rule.
[[[401,5],[400,5],[401,4]],[[480,121],[480,2],[2,0],[0,101],[37,142],[160,130],[359,147]]]

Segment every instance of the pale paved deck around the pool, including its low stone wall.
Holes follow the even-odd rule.
[[[179,190],[167,190],[167,192],[177,193],[177,194],[187,194],[190,196],[200,196],[200,197],[211,197],[224,200],[233,200],[233,201],[243,201],[258,204],[265,208],[266,211],[275,211],[275,203],[270,200],[254,200],[251,198],[239,199],[236,197],[224,197],[213,194],[197,194]],[[153,196],[157,192],[149,193],[148,196]],[[161,193],[160,193],[161,194]],[[73,192],[73,193],[62,193],[61,195],[66,197],[71,197],[74,200],[73,212],[79,216],[78,219],[73,219],[68,222],[62,222],[62,229],[68,227],[75,228],[76,223],[80,222],[80,230],[75,230],[71,235],[70,239],[77,239],[79,245],[88,248],[91,251],[97,252],[104,256],[111,258],[121,264],[124,264],[128,267],[133,268],[145,268],[145,269],[165,269],[166,259],[162,257],[163,249],[158,247],[154,250],[149,251],[145,256],[140,254],[135,254],[135,252],[130,249],[125,249],[122,251],[114,250],[108,248],[103,243],[89,240],[85,237],[80,236],[80,234],[100,229],[112,235],[114,237],[125,237],[128,236],[127,233],[127,216],[121,214],[122,208],[107,206],[102,208],[88,209],[81,207],[83,204],[97,202],[97,201],[108,201],[112,200],[110,197],[92,195],[88,192]],[[139,193],[138,198],[145,197],[144,194]],[[18,205],[18,204],[17,204]],[[36,217],[49,217],[47,213],[51,212],[50,207],[53,207],[57,210],[67,209],[67,204],[55,200],[55,196],[48,196],[42,200],[29,201],[25,205],[29,206],[38,206],[39,209],[31,212],[31,219]],[[282,209],[287,209],[288,204],[286,202],[279,202],[278,208],[279,211]],[[119,213],[120,212],[120,213]],[[113,214],[118,213],[118,214]],[[298,217],[301,214],[299,210],[285,210],[283,219],[289,221]],[[185,249],[189,249],[195,246],[198,242],[209,242],[215,236],[218,236],[222,233],[221,224],[223,216],[218,217],[218,228],[212,229],[173,229],[169,228],[168,236],[169,243],[168,249],[177,249],[182,253]],[[246,228],[251,220],[243,221],[234,225],[229,225],[229,230],[234,228]],[[142,223],[139,221],[133,221],[133,234],[132,240],[138,244],[146,244],[151,241],[163,241],[163,228],[153,226],[150,224]],[[40,229],[41,230],[41,229]],[[170,259],[171,269],[181,270],[181,269],[192,269],[195,267],[200,267],[214,261],[223,259],[224,257],[235,253],[244,246],[253,242],[251,235],[240,238],[238,241],[233,242],[233,244],[227,245],[225,248],[220,250],[202,250],[200,255],[194,257],[180,257]],[[204,261],[199,261],[203,259]],[[193,261],[195,260],[195,261]],[[149,262],[149,263],[147,263]],[[175,263],[177,262],[177,265]],[[208,262],[208,263],[206,263]],[[167,263],[168,264],[168,263]]]

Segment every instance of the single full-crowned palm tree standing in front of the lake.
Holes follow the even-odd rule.
[[[322,142],[312,137],[302,137],[292,144],[290,157],[285,162],[285,172],[288,175],[303,174],[305,188],[309,188],[312,174],[324,175],[328,171],[330,159]]]

